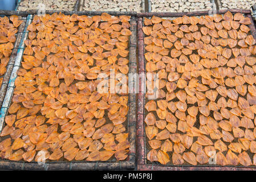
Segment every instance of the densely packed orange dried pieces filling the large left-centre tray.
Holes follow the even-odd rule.
[[[34,16],[1,132],[1,158],[127,158],[128,94],[98,92],[96,78],[110,69],[128,73],[129,19],[107,13]]]

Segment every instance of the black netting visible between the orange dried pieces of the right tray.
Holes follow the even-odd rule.
[[[223,16],[223,15],[222,15]],[[200,16],[197,16],[197,17],[200,17]],[[163,18],[163,19],[169,19],[169,20],[173,20],[173,19],[175,19],[175,18]],[[143,23],[143,26],[145,26],[144,25],[144,23]],[[179,24],[178,25],[179,27],[181,27],[182,26],[182,24]],[[200,24],[197,24],[197,26],[198,26],[198,31],[200,31],[200,28],[201,27],[203,27],[202,25],[200,25]],[[172,33],[172,34],[174,34],[174,33]],[[184,33],[185,34],[185,33]],[[249,32],[247,35],[251,35],[251,32]],[[228,35],[229,36],[229,35]],[[144,37],[147,37],[147,35],[145,35],[144,34]],[[228,37],[228,38],[230,38],[230,37]],[[218,40],[218,38],[216,38],[217,40]],[[164,40],[167,40],[167,39],[164,39]],[[181,40],[181,38],[178,38],[177,40]],[[189,40],[189,42],[191,43],[191,42],[194,42],[194,41],[191,41],[191,40]],[[173,43],[174,44],[174,43]],[[144,48],[145,48],[145,46],[147,46],[147,45],[144,45]],[[173,47],[172,47],[173,48]],[[170,51],[170,49],[172,49],[172,48],[169,48],[169,51]],[[185,46],[184,46],[184,48],[185,48]],[[227,45],[226,47],[222,47],[222,48],[229,48],[229,46]],[[240,46],[235,46],[235,48],[241,48]],[[145,49],[145,53],[147,53],[148,51]],[[196,52],[196,50],[193,50],[193,52],[192,52],[192,54],[193,53],[197,53]],[[198,53],[197,53],[198,54]],[[168,57],[171,57],[170,56],[170,52],[169,52],[169,54],[167,55]],[[252,55],[253,56],[253,55]],[[189,59],[189,56],[187,56],[188,57],[188,59]],[[254,55],[254,57],[255,57],[255,55]],[[233,53],[232,53],[232,56],[229,58],[229,60],[230,59],[233,59],[233,58],[235,58],[234,57],[234,55],[233,55]],[[177,57],[177,59],[178,59],[178,57]],[[189,59],[189,61],[190,61],[190,59]],[[147,60],[145,59],[145,64],[147,64]],[[165,64],[166,65],[166,64]],[[183,63],[181,63],[180,65],[185,65],[185,64],[183,64]],[[245,63],[244,65],[243,65],[243,67],[245,67],[245,66],[248,66],[248,67],[251,67],[250,65],[248,65],[247,63]],[[227,65],[225,64],[224,65],[224,68],[227,68]],[[159,71],[159,70],[158,70]],[[158,71],[156,71],[156,72],[158,72]],[[176,71],[177,71],[177,68],[176,68]],[[168,72],[167,72],[167,75],[168,75]],[[179,75],[180,75],[180,77],[181,77],[181,75],[182,75],[182,73],[179,73]],[[254,73],[253,74],[253,76],[256,76],[256,74]],[[214,78],[213,76],[211,76],[212,78]],[[224,78],[224,80],[226,80],[226,78],[227,78],[227,76]],[[199,76],[199,77],[197,77],[197,79],[198,79],[198,82],[199,83],[201,83],[201,76]],[[167,81],[168,82],[168,80],[165,80],[165,81]],[[175,81],[175,83],[177,84],[177,81]],[[188,83],[188,81],[187,81],[187,83]],[[245,85],[246,85],[246,87],[249,85],[249,84],[247,84],[247,82],[245,82]],[[255,85],[255,84],[254,84]],[[209,89],[211,89],[210,87],[209,87],[209,85],[207,85],[208,86],[208,88]],[[226,89],[230,89],[230,87],[229,86],[226,86]],[[167,93],[168,92],[168,90],[166,90],[166,87],[164,87],[164,88],[162,88],[162,90],[165,92],[165,93]],[[177,88],[176,90],[174,90],[174,93],[177,93],[178,92],[178,90],[182,90],[182,89],[180,89],[180,88]],[[213,89],[213,90],[215,90],[215,89]],[[205,92],[203,92],[203,93],[205,93]],[[248,92],[247,92],[248,93]],[[246,95],[247,95],[247,93],[245,94],[245,96],[242,96],[241,94],[238,94],[238,97],[242,97],[242,98],[245,98],[246,99]],[[217,96],[217,98],[216,98],[216,100],[215,100],[215,102],[217,103],[217,101],[221,98],[222,96],[220,96],[220,94],[218,94],[218,96]],[[161,100],[161,99],[163,99],[163,100],[165,100],[165,97],[164,98],[157,98],[156,100],[155,100],[155,102],[157,103],[157,101],[158,100]],[[228,97],[226,97],[225,98],[226,99],[226,102],[229,100],[229,98]],[[209,104],[209,99],[208,98],[206,98],[206,100],[208,101],[207,102],[207,104],[206,105],[208,105]],[[147,94],[146,94],[146,96],[145,96],[145,104],[147,104],[147,102],[148,102],[149,100],[148,100],[148,98],[147,98]],[[170,101],[168,101],[168,102],[177,102],[177,101],[179,101],[178,100],[178,98],[176,97],[176,98],[173,98],[173,100],[170,100]],[[187,102],[187,101],[186,101]],[[198,104],[197,104],[197,102],[196,102],[196,104],[187,104],[187,107],[190,107],[190,106],[198,106]],[[159,108],[159,107],[157,107],[157,108]],[[226,107],[226,109],[228,109],[228,110],[231,110],[232,108],[231,107]],[[170,111],[168,108],[167,108],[167,110],[170,112],[170,113],[172,113],[172,111]],[[220,113],[220,110],[218,110],[218,112]],[[147,114],[148,114],[149,112],[147,111],[147,109],[145,109],[144,108],[144,119],[145,119],[145,117],[147,116]],[[160,118],[157,116],[157,113],[156,113],[156,111],[151,111],[151,113],[153,113],[154,115],[155,115],[155,117],[156,117],[156,121],[158,121]],[[173,115],[175,115],[175,113],[172,113]],[[188,112],[187,111],[185,111],[185,114],[186,115],[188,115]],[[197,129],[200,129],[200,119],[199,119],[199,117],[200,117],[200,111],[198,110],[198,114],[197,114],[197,117],[196,117],[196,122],[194,123],[194,125],[193,125],[193,127],[196,127]],[[239,115],[239,119],[241,119],[243,116],[245,116],[243,113],[241,113],[241,115]],[[212,118],[214,118],[214,115],[213,115],[213,110],[210,110],[210,114],[209,114],[209,117],[212,117]],[[225,119],[225,118],[224,118]],[[229,120],[229,119],[225,119],[225,120]],[[176,125],[178,125],[178,121],[179,121],[179,119],[177,118],[177,123],[176,123]],[[220,122],[220,121],[217,121],[218,123]],[[167,122],[168,123],[168,122]],[[155,125],[156,126],[156,125]],[[147,124],[144,122],[144,128],[145,127],[147,127]],[[246,129],[244,128],[244,127],[240,127],[243,131],[245,131]],[[218,130],[219,131],[222,131],[222,129],[219,127],[218,128]],[[253,129],[249,129],[249,130],[251,130],[251,131],[253,131]],[[159,132],[160,131],[162,131],[162,130],[160,130],[159,129]],[[182,131],[179,131],[178,129],[176,130],[176,133],[178,133],[178,134],[186,134],[186,133],[183,133]],[[230,131],[229,133],[231,133],[232,135],[233,135],[233,131]],[[170,133],[170,134],[172,134],[172,133]],[[210,138],[210,136],[209,135],[207,135],[207,137],[208,138]],[[156,137],[154,137],[153,139],[156,139]],[[170,139],[169,139],[170,140]],[[193,137],[193,143],[194,142],[196,142],[196,140],[197,140],[197,137]],[[217,139],[211,139],[212,140],[212,142],[213,143],[215,143],[216,141],[217,141]],[[148,137],[147,137],[147,134],[145,133],[145,158],[147,158],[147,154],[148,154],[148,152],[149,151],[151,151],[152,150],[152,148],[151,148],[151,146],[149,145],[149,143],[148,143],[148,141],[149,141],[149,139],[148,139]],[[172,142],[172,144],[174,145],[174,143],[173,143],[173,141],[172,140],[170,140],[171,142]],[[164,140],[162,140],[162,142],[161,143],[163,143],[164,142]],[[222,140],[222,142],[224,142],[223,140]],[[233,140],[233,142],[238,142],[238,138],[235,138],[234,140]],[[226,144],[226,146],[227,146],[227,150],[226,151],[224,151],[224,152],[222,152],[222,154],[224,154],[225,156],[226,156],[226,153],[227,153],[227,151],[229,150],[229,148],[228,148],[228,146],[229,146],[229,142],[224,142],[225,144]],[[203,148],[204,148],[204,146],[203,146]],[[160,150],[160,148],[157,148],[157,151],[159,151]],[[191,151],[191,147],[190,148],[185,148],[185,151],[184,152],[189,152],[189,151]],[[243,151],[243,150],[242,150]],[[218,150],[216,150],[216,152],[218,152]],[[233,151],[234,152],[234,151]],[[250,149],[249,150],[247,150],[246,151],[247,152],[247,154],[250,156],[250,159],[251,159],[251,162],[253,163],[253,158],[254,158],[254,153],[252,153],[251,151],[250,151]],[[236,153],[236,152],[234,152],[235,153],[235,155],[239,155],[238,153]],[[164,165],[164,166],[177,166],[177,165],[174,165],[173,164],[173,162],[172,162],[172,154],[173,154],[173,150],[171,151],[171,152],[167,152],[167,154],[169,155],[169,158],[170,158],[170,162],[169,163],[167,163],[166,165]],[[183,154],[183,153],[182,153]],[[181,154],[181,155],[182,155]],[[195,154],[196,155],[196,154]],[[160,164],[159,162],[150,162],[149,160],[147,160],[147,164],[153,164],[153,165],[162,165],[162,164]],[[187,163],[186,161],[181,165],[181,166],[192,166],[191,164],[189,164],[189,163]],[[200,163],[197,163],[197,166],[218,166],[218,165],[210,165],[210,164],[200,164]],[[239,164],[238,166],[242,166],[241,164]]]

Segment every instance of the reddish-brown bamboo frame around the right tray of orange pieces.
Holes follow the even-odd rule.
[[[227,11],[231,13],[242,13],[251,20],[250,29],[251,34],[256,39],[256,28],[251,16],[250,10],[217,10],[217,14],[225,14]],[[145,59],[144,59],[144,33],[143,33],[143,18],[152,17],[153,15],[159,17],[178,17],[178,16],[202,16],[208,15],[209,11],[191,12],[191,13],[139,13],[137,22],[137,38],[138,38],[138,61],[139,61],[139,73],[145,73]],[[164,166],[147,164],[147,154],[145,151],[145,130],[144,130],[144,114],[145,114],[145,93],[140,90],[137,98],[137,169],[138,170],[157,170],[157,171],[182,171],[182,170],[210,170],[210,171],[225,171],[225,170],[256,170],[256,167],[241,167],[241,166]]]

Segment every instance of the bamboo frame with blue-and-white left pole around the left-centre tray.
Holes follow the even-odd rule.
[[[9,109],[11,104],[11,98],[13,96],[14,91],[14,81],[17,77],[17,71],[21,66],[21,60],[23,55],[24,49],[24,41],[27,38],[27,26],[32,21],[32,17],[36,14],[36,10],[27,11],[0,11],[1,14],[15,14],[15,15],[27,15],[27,21],[25,26],[25,35],[21,42],[20,49],[22,50],[20,56],[17,56],[15,59],[15,63],[13,65],[14,69],[11,72],[11,76],[7,85],[7,92],[5,96],[5,100],[3,101],[3,105],[0,110],[0,129],[2,130],[3,125],[5,124],[5,115]],[[53,13],[60,13],[59,11],[46,11],[46,14],[53,14]],[[66,15],[78,14],[78,15],[101,15],[102,13],[108,13],[111,15],[130,15],[130,30],[132,35],[130,36],[129,40],[129,73],[136,73],[137,72],[137,61],[136,61],[136,46],[137,46],[137,23],[136,23],[136,13],[113,13],[113,12],[94,12],[94,11],[86,11],[86,12],[78,12],[78,11],[64,11],[62,12]],[[105,161],[105,162],[86,162],[84,161],[53,161],[53,162],[46,162],[44,165],[39,165],[37,162],[25,162],[25,161],[11,161],[6,159],[0,160],[0,169],[16,169],[16,170],[95,170],[95,169],[133,169],[135,168],[135,142],[136,142],[136,94],[130,93],[128,99],[128,106],[129,111],[127,115],[127,132],[129,133],[129,152],[127,159],[123,161]],[[1,131],[0,130],[0,131]]]

